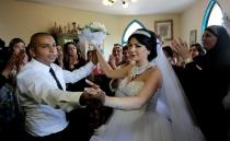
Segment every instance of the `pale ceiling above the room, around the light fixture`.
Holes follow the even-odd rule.
[[[66,8],[115,14],[115,15],[141,15],[180,13],[186,10],[198,0],[138,0],[129,3],[127,9],[122,7],[122,0],[117,0],[113,7],[105,7],[102,0],[19,0],[25,2],[36,2],[42,4],[60,5]]]

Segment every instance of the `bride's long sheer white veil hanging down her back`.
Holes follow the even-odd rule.
[[[175,141],[204,141],[202,131],[195,125],[184,91],[159,43],[157,49],[158,57],[151,63],[158,66],[163,79],[157,110],[170,118]]]

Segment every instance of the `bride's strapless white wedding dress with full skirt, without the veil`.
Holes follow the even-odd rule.
[[[120,81],[116,96],[133,96],[139,93],[142,81]],[[172,125],[157,111],[159,91],[149,103],[138,110],[118,110],[108,122],[100,127],[90,141],[173,141]]]

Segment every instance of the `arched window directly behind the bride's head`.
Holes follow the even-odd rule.
[[[137,20],[134,20],[133,22],[130,22],[123,33],[122,44],[126,45],[128,42],[128,37],[131,35],[131,33],[134,33],[138,28],[145,28],[143,24],[141,24]]]

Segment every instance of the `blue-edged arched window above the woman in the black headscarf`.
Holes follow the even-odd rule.
[[[204,32],[204,30],[209,25],[222,25],[222,10],[218,2],[216,0],[210,0],[205,12],[202,31]]]

